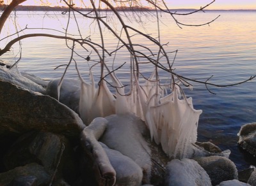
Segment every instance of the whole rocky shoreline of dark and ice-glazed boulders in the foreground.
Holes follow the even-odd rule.
[[[237,172],[230,151],[209,142],[193,144],[191,159],[167,157],[135,115],[84,125],[73,85],[59,102],[56,83],[0,67],[0,185],[256,185],[255,167]],[[252,155],[255,141],[256,124],[241,127]]]

